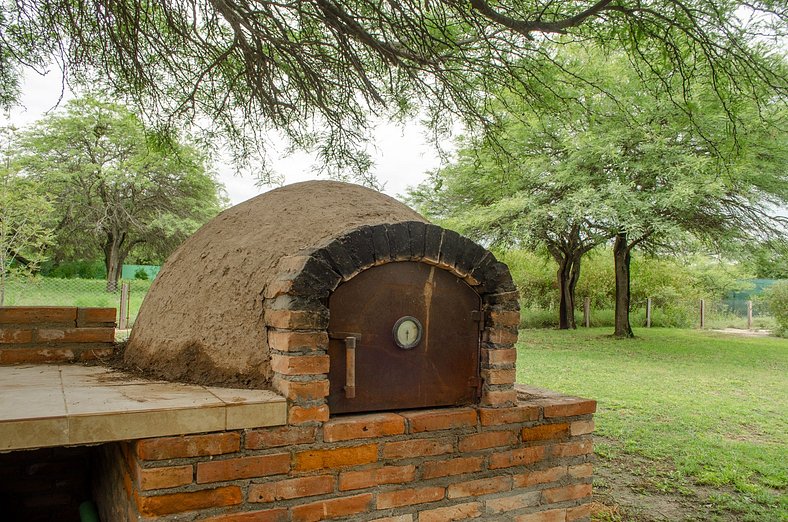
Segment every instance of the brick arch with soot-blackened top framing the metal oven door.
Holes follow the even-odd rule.
[[[481,404],[513,406],[517,289],[508,267],[460,234],[421,221],[361,226],[330,243],[280,260],[264,293],[274,386],[290,402],[290,422],[328,419],[328,297],[373,266],[397,261],[435,265],[462,278],[485,314]],[[325,391],[325,393],[323,393]]]

